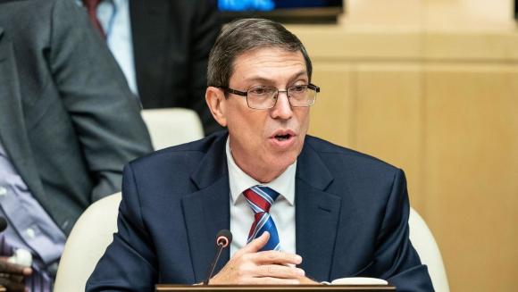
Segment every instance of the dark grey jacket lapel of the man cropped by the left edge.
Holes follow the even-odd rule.
[[[45,192],[33,160],[23,118],[13,44],[2,41],[3,31],[0,28],[0,140],[31,193],[44,204]]]

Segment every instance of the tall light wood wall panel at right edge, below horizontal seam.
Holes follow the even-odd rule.
[[[518,287],[518,69],[430,65],[427,221],[452,291]]]

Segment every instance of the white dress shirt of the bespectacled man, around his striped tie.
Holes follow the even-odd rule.
[[[254,222],[254,211],[246,202],[243,191],[257,185],[272,188],[280,193],[275,203],[272,204],[270,214],[279,233],[280,251],[295,254],[295,171],[297,162],[289,165],[288,169],[277,179],[262,184],[241,171],[234,162],[230,150],[230,138],[227,139],[226,149],[230,180],[230,231],[233,238],[230,244],[230,256],[246,246],[246,239]]]

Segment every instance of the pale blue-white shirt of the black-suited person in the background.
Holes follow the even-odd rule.
[[[106,35],[106,43],[119,63],[129,89],[138,96],[133,38],[128,0],[104,0],[97,6],[97,19]]]

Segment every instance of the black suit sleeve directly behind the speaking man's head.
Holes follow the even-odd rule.
[[[191,95],[191,108],[199,114],[204,125],[205,135],[209,135],[223,129],[214,120],[213,114],[205,102],[209,54],[220,32],[220,24],[213,5],[209,1],[201,0],[196,3],[198,5],[195,8],[196,12],[191,24],[194,29],[190,44],[189,94]]]

